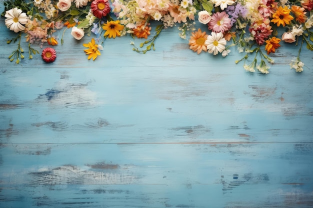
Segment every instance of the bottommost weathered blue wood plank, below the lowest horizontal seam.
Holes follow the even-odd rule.
[[[306,208],[312,151],[296,143],[2,145],[0,204]]]

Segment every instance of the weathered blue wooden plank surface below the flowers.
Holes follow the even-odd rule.
[[[312,53],[297,73],[284,44],[250,73],[168,28],[155,51],[116,37],[92,61],[69,32],[55,62],[17,65],[1,17],[1,208],[313,206]]]

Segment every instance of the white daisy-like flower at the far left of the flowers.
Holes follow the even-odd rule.
[[[23,31],[27,22],[27,15],[19,8],[11,8],[5,11],[5,26],[14,32]]]

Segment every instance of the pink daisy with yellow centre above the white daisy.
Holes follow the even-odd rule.
[[[208,29],[217,33],[228,31],[230,27],[230,18],[225,11],[213,13],[211,20],[208,22]]]

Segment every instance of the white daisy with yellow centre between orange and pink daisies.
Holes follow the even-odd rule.
[[[211,32],[211,35],[207,36],[205,40],[205,44],[207,45],[207,52],[213,53],[213,55],[217,55],[218,52],[223,52],[225,50],[226,40],[223,37],[222,32]]]

